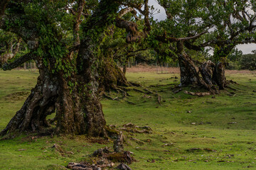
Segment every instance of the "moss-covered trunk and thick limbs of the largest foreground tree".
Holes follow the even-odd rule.
[[[33,42],[30,45],[30,49],[33,51],[18,58],[16,63],[5,64],[4,68],[12,69],[31,60],[30,55],[33,56],[36,49],[43,46],[43,55],[36,57],[40,75],[36,87],[32,89],[21,110],[14,115],[14,118],[11,119],[0,135],[15,137],[21,132],[87,134],[95,137],[106,135],[106,121],[98,96],[100,62],[98,62],[99,58],[95,52],[97,52],[97,47],[100,45],[104,28],[111,24],[107,17],[110,16],[110,13],[116,13],[118,9],[119,4],[115,1],[100,1],[100,5],[95,9],[95,13],[82,30],[87,36],[84,36],[84,39],[80,42],[77,58],[70,55],[73,52],[68,52],[68,54],[61,57],[58,52],[54,52],[55,55],[52,55],[53,50],[51,49],[65,49],[64,51],[67,51],[67,45],[63,43],[61,37],[62,33],[58,33],[53,24],[43,23],[44,26],[48,27],[47,30],[52,33],[50,37],[48,35],[43,36],[52,40],[50,45],[41,45],[41,41],[36,41],[41,33],[40,31],[31,32],[28,29],[28,34],[26,33],[23,39],[28,45]],[[22,13],[22,15],[25,14]],[[27,26],[31,25],[25,24],[24,28]],[[41,25],[39,24],[39,26]],[[16,31],[14,28],[12,30]],[[90,31],[93,31],[94,34],[92,35]],[[17,33],[21,32],[17,31]],[[29,33],[34,34],[33,41],[25,39]],[[58,67],[60,65],[62,67]],[[107,72],[107,69],[104,72]],[[117,75],[116,73],[113,74]],[[115,79],[118,84],[119,78]],[[105,81],[102,82],[105,83]],[[50,121],[46,120],[47,115],[52,113],[56,113],[53,120],[56,122],[55,128],[51,127]]]

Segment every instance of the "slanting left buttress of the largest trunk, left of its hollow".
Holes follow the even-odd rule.
[[[20,132],[43,132],[50,126],[46,116],[55,112],[55,101],[58,97],[56,77],[50,77],[47,69],[40,68],[40,76],[35,88],[31,90],[21,110],[14,115],[0,135],[15,137]]]

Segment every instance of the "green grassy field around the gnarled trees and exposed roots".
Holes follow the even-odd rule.
[[[0,71],[0,130],[21,108],[36,84],[38,73]],[[171,78],[173,77],[173,78]],[[129,91],[125,100],[102,99],[108,125],[125,123],[149,126],[151,134],[124,133],[124,149],[134,152],[132,169],[256,169],[256,74],[227,74],[238,84],[215,96],[174,94],[178,74],[128,73],[156,96]],[[154,85],[154,86],[151,86]],[[163,86],[155,86],[163,85]],[[140,88],[140,89],[144,89]],[[186,91],[198,91],[191,87]],[[118,94],[111,93],[112,97]],[[135,140],[134,140],[135,139]],[[60,154],[52,148],[60,145]],[[86,136],[37,137],[22,135],[0,141],[0,169],[64,169],[68,162],[80,162],[112,141]]]

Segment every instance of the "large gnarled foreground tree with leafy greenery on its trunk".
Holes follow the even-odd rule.
[[[6,5],[1,28],[20,36],[30,52],[4,64],[3,69],[13,69],[33,58],[40,76],[21,110],[0,135],[13,137],[20,132],[48,132],[48,128],[52,128],[46,116],[52,113],[56,114],[53,132],[106,135],[105,118],[97,94],[97,49],[122,2],[102,0],[93,8],[92,15],[81,23],[80,45],[76,43],[78,30],[73,31],[72,40],[65,36],[76,28],[74,23],[77,23],[65,10],[68,1],[10,1]],[[84,3],[78,1],[78,4]],[[72,21],[70,26],[67,19]],[[74,55],[75,51],[78,51],[77,55]]]

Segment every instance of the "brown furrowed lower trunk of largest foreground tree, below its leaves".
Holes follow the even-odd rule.
[[[49,72],[40,60],[36,63],[40,73],[36,87],[0,135],[9,138],[21,132],[54,132],[106,136],[102,105],[95,89],[90,86],[90,78],[79,75],[67,79],[61,72]],[[71,88],[69,81],[79,83]],[[56,113],[54,120],[46,120],[47,115],[53,113]],[[56,127],[51,127],[50,122],[56,122]]]

